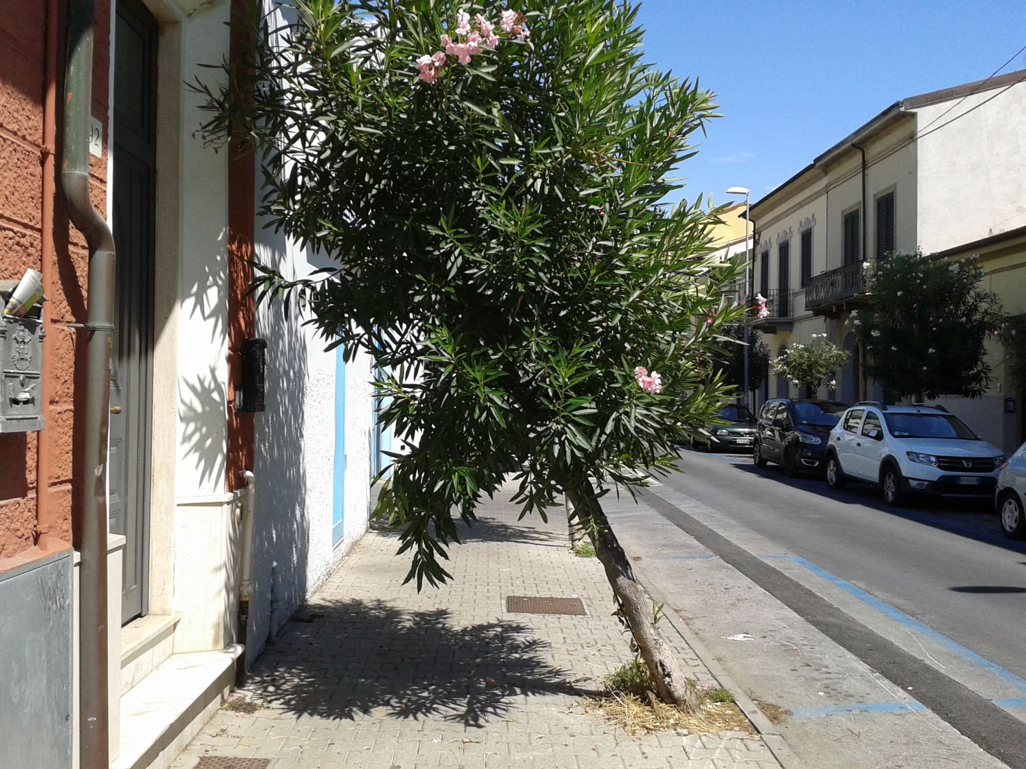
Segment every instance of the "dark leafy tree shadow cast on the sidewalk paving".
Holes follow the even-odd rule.
[[[353,720],[385,709],[395,719],[483,727],[517,698],[586,693],[545,659],[548,643],[517,622],[460,626],[446,609],[405,611],[381,600],[318,602],[305,614],[245,687],[292,714]]]

